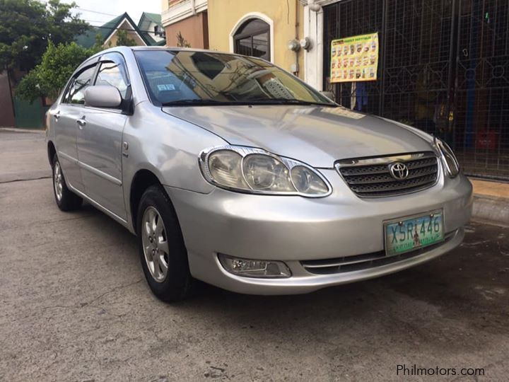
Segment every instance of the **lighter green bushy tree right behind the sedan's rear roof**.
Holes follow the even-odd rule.
[[[103,47],[86,49],[76,42],[54,45],[49,41],[42,61],[28,72],[16,87],[16,94],[33,102],[40,97],[57,98],[74,70]]]

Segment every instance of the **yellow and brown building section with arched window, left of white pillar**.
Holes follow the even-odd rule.
[[[299,0],[163,0],[168,46],[179,45],[180,34],[191,47],[262,57],[301,78],[303,20]]]

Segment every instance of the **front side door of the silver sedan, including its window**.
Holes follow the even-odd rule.
[[[130,97],[129,76],[119,53],[105,54],[98,64],[95,85],[115,86]],[[126,219],[122,189],[122,132],[128,116],[120,108],[86,106],[78,118],[78,158],[88,197]]]

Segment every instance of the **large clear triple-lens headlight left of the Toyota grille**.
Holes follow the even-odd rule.
[[[262,149],[222,146],[199,157],[206,180],[227,190],[269,195],[324,197],[332,188],[314,168]]]

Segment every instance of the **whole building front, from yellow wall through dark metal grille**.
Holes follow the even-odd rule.
[[[445,139],[467,175],[509,180],[509,1],[163,0],[163,8],[169,46],[168,35],[182,31],[192,47],[264,57],[347,108]],[[362,69],[350,74],[356,81],[332,78],[332,42],[367,34],[377,38],[375,81],[362,81]],[[302,47],[291,50],[296,41]],[[350,60],[341,64],[351,71]]]

